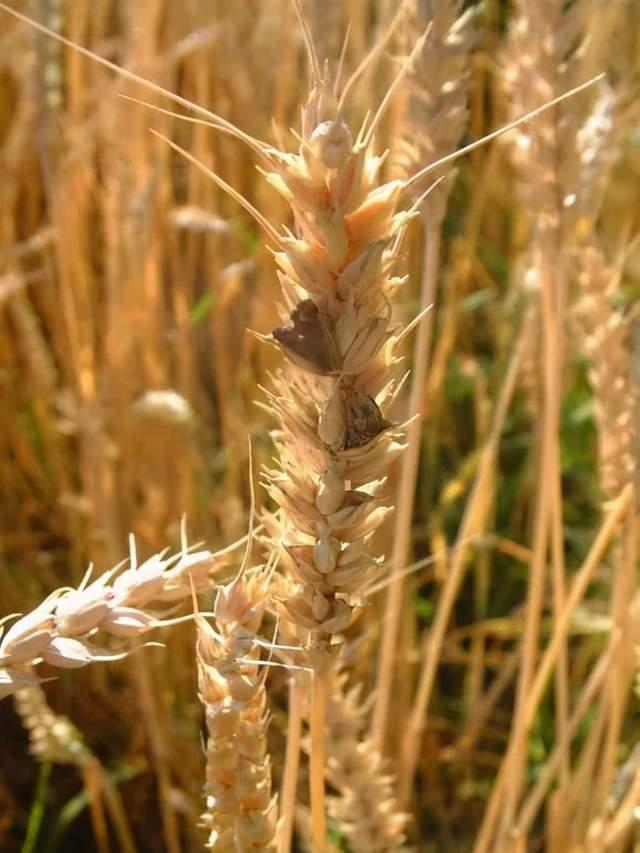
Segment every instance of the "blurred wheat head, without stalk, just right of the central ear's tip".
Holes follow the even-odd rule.
[[[476,37],[475,9],[462,12],[462,0],[413,0],[405,38],[415,44],[429,24],[404,87],[404,109],[394,160],[405,175],[455,151],[467,124],[469,54]],[[451,187],[445,181],[426,203],[440,220]]]

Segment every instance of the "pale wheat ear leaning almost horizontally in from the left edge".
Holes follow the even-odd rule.
[[[224,564],[223,553],[184,548],[173,556],[154,554],[138,566],[132,552],[129,568],[119,574],[116,567],[89,582],[87,573],[77,589],[56,590],[9,628],[0,628],[0,698],[37,681],[29,668],[41,661],[77,669],[125,657],[126,651],[94,645],[94,635],[133,638],[168,624],[159,608],[187,598],[192,585],[208,589],[213,571]]]

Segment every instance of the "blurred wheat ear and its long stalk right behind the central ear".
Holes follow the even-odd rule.
[[[433,163],[454,151],[467,122],[468,56],[473,44],[472,10],[461,14],[459,0],[414,0],[407,17],[405,37],[410,45],[428,23],[422,46],[408,73],[404,109],[399,118],[400,133],[395,156],[406,175],[414,175],[424,163]],[[423,215],[424,257],[420,287],[420,310],[432,308],[436,298],[440,227],[451,189],[450,180],[434,187],[425,199]],[[409,414],[418,415],[407,431],[408,451],[403,456],[397,515],[391,557],[392,582],[386,600],[382,648],[376,682],[376,703],[372,732],[379,748],[384,741],[396,657],[396,641],[402,610],[402,570],[411,541],[411,520],[420,455],[422,420],[433,311],[420,325],[413,354],[413,375]]]

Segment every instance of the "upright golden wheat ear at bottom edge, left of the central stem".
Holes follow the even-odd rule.
[[[207,726],[206,811],[211,850],[275,850],[276,800],[267,753],[265,670],[255,643],[268,576],[238,576],[218,592],[215,625],[197,617],[198,689]]]

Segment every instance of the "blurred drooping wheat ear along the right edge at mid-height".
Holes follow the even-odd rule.
[[[581,251],[577,311],[584,351],[591,362],[588,375],[598,429],[600,485],[610,499],[633,479],[635,470],[629,324],[613,304],[620,275],[619,266],[608,265],[596,246]]]

